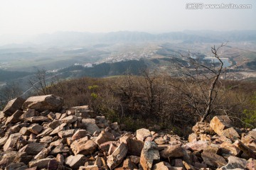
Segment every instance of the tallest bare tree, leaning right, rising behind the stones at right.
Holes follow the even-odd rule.
[[[218,55],[221,47],[211,47],[213,59],[217,60],[213,64],[204,64],[198,58],[188,55],[182,55],[187,65],[178,62],[179,84],[172,84],[178,93],[185,99],[186,103],[201,117],[201,122],[220,108],[220,98],[223,95],[224,86],[220,77],[225,74],[223,60]]]

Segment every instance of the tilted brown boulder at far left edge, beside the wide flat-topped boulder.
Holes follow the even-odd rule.
[[[14,98],[13,100],[9,101],[4,108],[4,111],[3,111],[4,115],[10,116],[10,115],[14,114],[14,112],[16,112],[17,110],[20,110],[24,101],[25,100],[20,97]]]

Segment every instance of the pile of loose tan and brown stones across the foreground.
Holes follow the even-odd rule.
[[[63,98],[9,101],[0,114],[0,169],[255,169],[256,130],[228,116],[197,123],[188,141],[139,129],[119,130],[87,106]]]

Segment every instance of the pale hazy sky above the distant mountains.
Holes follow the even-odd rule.
[[[252,8],[186,9],[193,2],[252,4]],[[0,35],[256,30],[255,16],[255,0],[0,0]]]

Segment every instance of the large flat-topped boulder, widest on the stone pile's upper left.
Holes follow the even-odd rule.
[[[45,96],[32,96],[28,98],[24,103],[22,108],[35,109],[36,111],[60,111],[63,106],[63,98],[54,96],[53,94]]]

